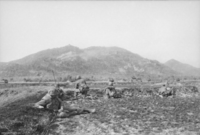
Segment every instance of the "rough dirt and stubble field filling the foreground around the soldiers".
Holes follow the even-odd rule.
[[[130,97],[106,100],[100,90],[92,98],[66,100],[65,108],[95,108],[93,114],[71,111],[56,118],[47,110],[31,105],[50,86],[23,86],[0,89],[0,135],[199,135],[200,96],[177,92],[175,98],[160,98],[135,89]]]

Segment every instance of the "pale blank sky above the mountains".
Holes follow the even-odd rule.
[[[1,62],[68,44],[200,67],[200,1],[0,1]]]

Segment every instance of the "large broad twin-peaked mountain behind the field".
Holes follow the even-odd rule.
[[[118,47],[79,49],[68,45],[44,50],[7,63],[0,68],[2,77],[84,75],[98,77],[131,77],[176,75],[177,72],[155,60],[142,58]]]

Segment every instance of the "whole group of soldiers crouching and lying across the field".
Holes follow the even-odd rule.
[[[89,91],[89,86],[87,85],[86,81],[81,78],[81,76],[77,77],[77,81],[75,82],[76,92],[74,97],[77,98],[79,95],[83,95],[84,97],[87,96]],[[104,89],[104,96],[105,98],[113,98],[116,89],[114,86],[115,82],[114,79],[109,79],[108,87]],[[51,109],[57,112],[58,117],[65,117],[67,114],[65,113],[65,108],[63,105],[64,100],[64,91],[61,88],[61,84],[56,84],[55,88],[50,89],[47,94],[37,103],[35,103],[36,108],[44,108],[44,109]],[[159,90],[158,94],[160,97],[167,97],[170,95],[174,95],[174,91],[168,85],[164,84]],[[73,109],[76,111],[81,112],[88,112],[93,113],[95,109]]]

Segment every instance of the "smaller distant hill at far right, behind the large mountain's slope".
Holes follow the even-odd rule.
[[[186,76],[200,76],[200,68],[195,68],[174,59],[167,61],[165,65]]]

